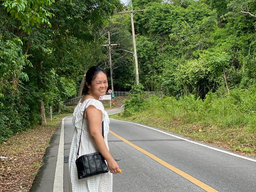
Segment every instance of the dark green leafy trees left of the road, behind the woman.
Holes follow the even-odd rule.
[[[64,109],[86,68],[103,60],[99,30],[120,8],[118,0],[1,2],[0,142],[37,124],[50,106]]]

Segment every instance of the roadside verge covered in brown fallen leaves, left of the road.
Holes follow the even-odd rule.
[[[32,182],[43,164],[46,148],[62,118],[70,114],[54,115],[47,125],[37,126],[11,136],[1,144],[0,191],[28,192]]]

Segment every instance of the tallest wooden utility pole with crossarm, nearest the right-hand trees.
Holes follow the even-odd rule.
[[[132,0],[131,0],[131,9],[132,9]],[[140,12],[145,10],[130,10],[130,11],[124,11],[119,12],[118,14],[123,13],[131,13],[131,22],[132,22],[132,40],[133,40],[133,49],[134,49],[134,61],[135,61],[135,70],[136,70],[136,82],[137,85],[140,84],[139,80],[139,69],[138,69],[138,58],[137,58],[137,49],[136,49],[136,39],[135,39],[135,30],[134,30],[134,22],[133,22],[133,12]]]

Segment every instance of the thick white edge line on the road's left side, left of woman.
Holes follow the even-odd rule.
[[[60,130],[60,144],[58,148],[58,157],[57,157],[54,183],[53,183],[53,192],[63,192],[64,120],[69,116],[66,116],[62,119],[61,130]]]

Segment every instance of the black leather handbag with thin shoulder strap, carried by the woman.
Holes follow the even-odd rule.
[[[86,109],[86,106],[84,108],[84,112],[85,112],[85,109]],[[105,159],[99,152],[86,154],[79,157],[79,148],[80,148],[83,124],[84,124],[84,114],[83,114],[80,140],[79,140],[79,145],[77,150],[77,159],[76,159],[78,179],[83,179],[90,176],[108,172],[108,166],[106,165]],[[102,136],[104,138],[103,121],[102,121]]]

